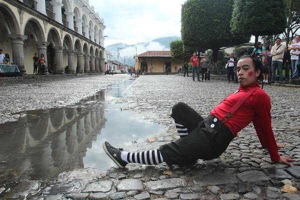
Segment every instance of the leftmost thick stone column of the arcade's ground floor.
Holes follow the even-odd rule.
[[[11,34],[8,37],[11,38],[12,61],[18,66],[22,74],[26,74],[24,66],[24,40],[27,39],[27,36],[22,34]]]

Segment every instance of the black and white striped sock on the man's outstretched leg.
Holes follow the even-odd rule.
[[[146,151],[135,152],[135,153],[122,151],[121,158],[125,162],[134,162],[140,164],[159,164],[164,162],[159,149],[146,150]]]

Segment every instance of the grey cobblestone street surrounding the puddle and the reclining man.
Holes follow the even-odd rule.
[[[10,112],[23,109],[62,106],[78,101],[100,87],[128,78],[90,76],[50,82],[1,85],[1,122],[13,119]],[[42,88],[39,93],[32,91]],[[76,88],[76,92],[72,88]],[[130,150],[152,149],[178,137],[169,116],[172,106],[183,101],[203,117],[238,84],[212,79],[192,82],[179,75],[138,77],[117,99],[123,110],[141,113],[145,119],[162,124],[165,132],[143,142],[132,142]],[[190,167],[166,164],[145,166],[128,164],[107,172],[84,168],[63,172],[44,185],[25,180],[14,188],[11,198],[27,199],[300,199],[300,88],[265,85],[272,103],[272,127],[277,142],[285,144],[280,154],[292,156],[292,167],[273,163],[262,149],[250,124],[217,159],[198,160]],[[12,117],[11,117],[12,116]],[[142,131],[142,130],[140,130]],[[113,145],[114,141],[109,141]],[[131,141],[127,141],[131,142]],[[122,147],[122,146],[116,146]],[[124,149],[128,150],[128,149]],[[282,192],[281,189],[288,192]],[[0,185],[0,194],[7,188]],[[6,191],[7,192],[7,191]]]

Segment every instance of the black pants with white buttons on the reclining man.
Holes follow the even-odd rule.
[[[171,117],[185,127],[188,135],[159,147],[169,165],[185,165],[197,159],[219,157],[233,139],[230,130],[216,117],[201,117],[194,109],[179,102],[172,108]]]

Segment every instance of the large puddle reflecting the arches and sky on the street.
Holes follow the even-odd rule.
[[[45,180],[75,168],[106,170],[113,162],[102,142],[130,149],[163,130],[140,114],[105,102],[117,98],[132,83],[124,81],[84,99],[75,107],[26,112],[18,121],[0,124],[0,186],[23,178]]]

